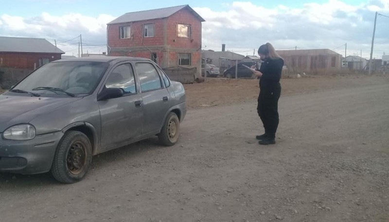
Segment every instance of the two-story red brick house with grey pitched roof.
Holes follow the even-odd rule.
[[[149,58],[201,72],[201,22],[189,5],[126,13],[107,24],[110,56]]]

